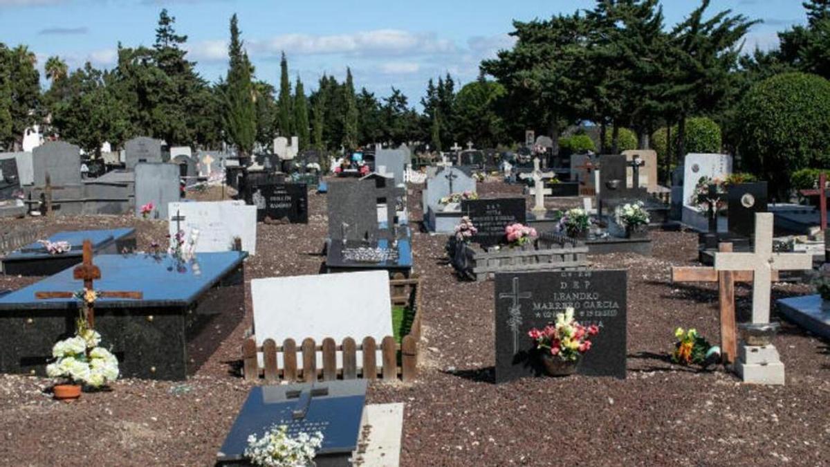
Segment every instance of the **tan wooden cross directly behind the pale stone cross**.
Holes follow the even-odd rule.
[[[731,253],[732,243],[720,243],[720,253]],[[735,335],[735,283],[753,282],[752,271],[715,271],[715,268],[671,268],[672,283],[718,283],[720,307],[720,355],[725,365],[735,361],[738,352]],[[779,280],[773,271],[771,280]]]

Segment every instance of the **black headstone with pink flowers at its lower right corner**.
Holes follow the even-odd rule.
[[[524,198],[466,199],[461,201],[461,213],[478,229],[472,241],[491,247],[505,240],[505,227],[525,224],[527,209]]]

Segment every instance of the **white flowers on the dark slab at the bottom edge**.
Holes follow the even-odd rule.
[[[288,435],[286,425],[275,425],[261,438],[248,436],[245,455],[251,464],[266,467],[305,467],[311,464],[317,450],[323,445],[323,434],[300,433]]]

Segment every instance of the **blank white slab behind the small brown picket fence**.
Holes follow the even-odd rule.
[[[331,337],[341,343],[346,337],[381,342],[393,336],[386,271],[253,279],[251,301],[257,346],[266,339],[281,343],[291,338],[299,344],[307,337],[318,343]],[[377,357],[380,366],[379,350]],[[342,356],[337,358],[341,365]],[[297,367],[302,367],[297,360]],[[363,361],[363,352],[358,351],[357,361]],[[277,363],[283,367],[282,361]],[[322,367],[320,354],[317,367]]]

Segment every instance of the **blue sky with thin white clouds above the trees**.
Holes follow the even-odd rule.
[[[663,0],[666,23],[680,21],[697,2]],[[227,24],[239,15],[242,37],[257,77],[278,81],[286,51],[292,76],[306,89],[324,72],[338,78],[351,66],[358,86],[386,96],[402,89],[414,104],[427,79],[450,72],[475,79],[478,63],[510,47],[512,19],[549,17],[590,7],[592,0],[0,0],[0,31],[7,45],[27,44],[39,64],[59,55],[71,67],[115,62],[118,42],[151,45],[162,7],[188,35],[189,57],[208,80],[227,67]],[[800,0],[713,0],[711,11],[730,8],[764,24],[748,47],[777,44],[775,32],[804,22]]]

